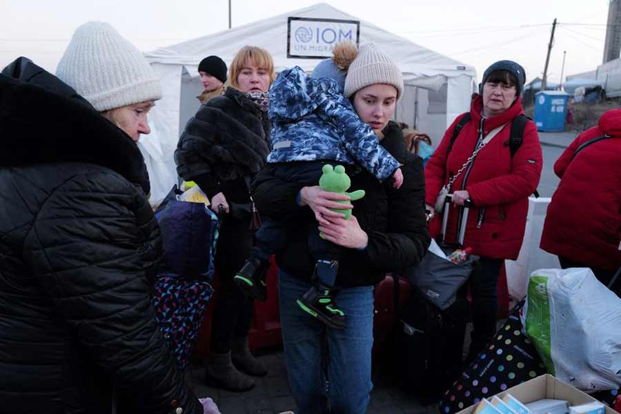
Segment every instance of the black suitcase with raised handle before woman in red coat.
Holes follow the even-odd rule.
[[[447,200],[450,200],[447,196]],[[442,242],[449,206],[444,206]],[[459,242],[464,241],[469,203],[460,220]],[[459,248],[460,246],[454,246]],[[467,285],[457,291],[455,302],[444,311],[432,304],[422,290],[414,289],[400,312],[397,331],[397,378],[409,395],[422,404],[438,402],[461,373],[464,335],[469,315]]]

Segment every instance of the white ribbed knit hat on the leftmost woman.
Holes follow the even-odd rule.
[[[99,112],[161,99],[161,85],[142,53],[109,23],[75,30],[56,76]]]

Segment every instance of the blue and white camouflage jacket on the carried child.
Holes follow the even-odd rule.
[[[299,66],[283,70],[270,88],[268,115],[272,123],[268,163],[360,164],[380,180],[400,166],[333,79],[313,79]]]

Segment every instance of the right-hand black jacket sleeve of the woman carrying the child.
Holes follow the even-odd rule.
[[[388,231],[367,230],[366,257],[369,264],[384,270],[403,270],[418,264],[431,238],[425,218],[425,182],[422,158],[410,156],[402,168],[403,185],[398,190],[387,183]]]

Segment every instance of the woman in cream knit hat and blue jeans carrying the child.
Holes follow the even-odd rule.
[[[347,201],[348,197],[324,192],[319,186],[279,181],[270,164],[253,182],[253,199],[262,215],[298,222],[295,238],[282,254],[276,255],[276,260],[285,362],[299,414],[330,412],[328,398],[333,413],[366,411],[373,388],[373,286],[384,279],[386,272],[417,264],[430,242],[424,215],[422,159],[408,153],[400,127],[390,121],[403,91],[401,71],[382,50],[364,45],[349,67],[344,91],[360,119],[380,139],[380,145],[403,164],[402,186],[396,189],[390,182],[382,184],[362,168],[348,171],[351,188],[363,189],[366,195],[355,201],[351,219],[345,220],[328,209],[348,208],[351,204],[335,201]],[[308,206],[319,215],[319,230],[328,240],[344,247],[335,281],[339,307],[347,315],[343,330],[326,328],[295,304],[295,299],[311,286],[314,265],[308,251],[308,234],[299,229],[306,228],[305,219],[315,217],[301,215],[300,206]],[[322,353],[324,335],[327,354]],[[325,355],[327,378],[322,360]]]

